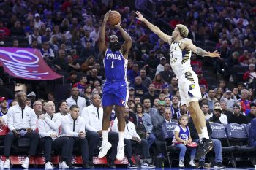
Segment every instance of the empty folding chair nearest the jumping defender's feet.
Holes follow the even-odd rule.
[[[229,142],[227,139],[227,133],[225,131],[225,125],[219,123],[210,123],[212,134],[212,139],[218,139],[222,142],[222,158],[228,158],[228,161],[235,167],[235,161],[233,157],[233,152],[235,150],[234,146],[229,146]],[[213,160],[213,155],[211,152],[211,161]]]

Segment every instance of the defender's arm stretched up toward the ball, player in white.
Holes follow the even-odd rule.
[[[169,43],[170,39],[172,38],[172,36],[168,36],[167,34],[165,34],[164,32],[162,32],[160,30],[160,28],[158,28],[157,26],[154,26],[154,24],[150,23],[148,20],[146,20],[146,18],[143,17],[143,15],[140,12],[136,12],[136,15],[138,17],[136,17],[138,20],[142,21],[143,23],[146,23],[146,25],[148,26],[149,29],[151,29],[151,31],[154,32],[154,34],[157,34],[159,36],[160,39],[164,40],[165,42]]]

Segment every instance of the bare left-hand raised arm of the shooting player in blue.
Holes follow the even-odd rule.
[[[106,23],[108,21],[108,16],[109,16],[110,12],[111,11],[108,11],[104,15],[104,20],[102,22],[102,27],[100,28],[100,31],[99,31],[98,47],[99,47],[99,52],[100,53],[105,53],[105,50],[107,50],[107,46],[106,46],[106,43],[105,43]]]

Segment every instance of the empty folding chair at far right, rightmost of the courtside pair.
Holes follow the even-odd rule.
[[[235,146],[234,157],[240,158],[242,160],[245,158],[245,161],[255,160],[255,147],[249,146],[248,135],[246,134],[246,128],[244,125],[239,125],[237,123],[230,123],[226,126],[227,138],[230,143],[230,146]],[[237,159],[234,159],[236,167]]]

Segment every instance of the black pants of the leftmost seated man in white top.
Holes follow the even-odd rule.
[[[34,156],[37,154],[37,146],[39,143],[39,134],[37,132],[32,131],[31,133],[26,133],[23,138],[29,138],[30,139],[30,147],[29,147],[29,155]],[[12,131],[10,131],[4,139],[4,155],[6,157],[10,157],[12,142],[14,140],[18,139]]]

